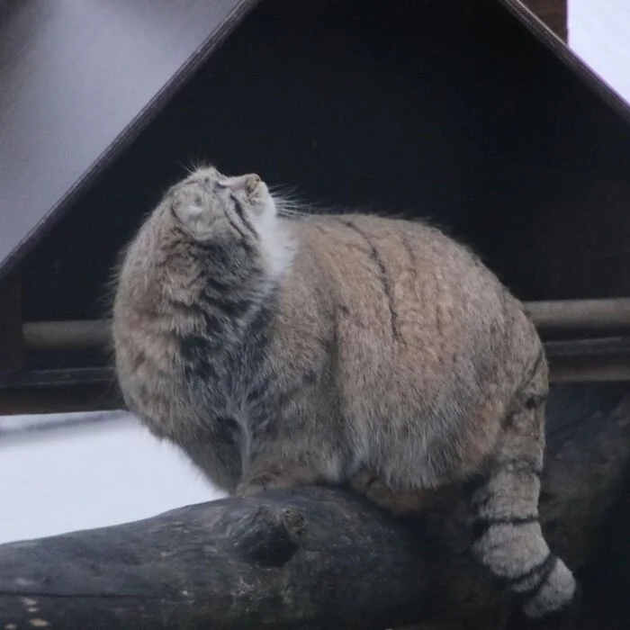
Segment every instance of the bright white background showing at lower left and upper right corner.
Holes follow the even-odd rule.
[[[630,0],[570,0],[573,49],[630,101]],[[0,543],[147,518],[218,497],[175,448],[120,414],[24,434],[0,418]]]

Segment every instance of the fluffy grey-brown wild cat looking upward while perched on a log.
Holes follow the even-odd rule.
[[[224,491],[367,474],[395,495],[481,475],[476,556],[526,617],[572,602],[538,523],[541,341],[439,230],[283,216],[258,175],[199,168],[127,248],[113,337],[130,410]]]

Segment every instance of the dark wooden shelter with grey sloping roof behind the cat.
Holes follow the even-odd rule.
[[[556,380],[630,375],[624,342],[584,341],[628,302],[561,302],[630,286],[627,105],[518,2],[7,4],[0,411],[120,405],[116,252],[204,159],[437,220],[554,302],[533,307],[548,340],[588,329],[549,347]],[[564,32],[563,4],[536,6]]]

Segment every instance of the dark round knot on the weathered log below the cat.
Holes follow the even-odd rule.
[[[229,536],[247,560],[280,567],[293,558],[305,531],[306,519],[299,510],[258,506],[230,527]]]

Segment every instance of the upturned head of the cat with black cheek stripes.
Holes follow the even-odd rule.
[[[166,196],[166,209],[200,242],[259,240],[276,215],[274,198],[258,175],[222,175],[213,166],[198,168],[175,184]]]

